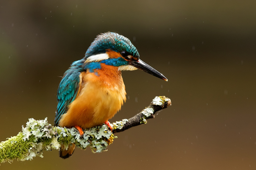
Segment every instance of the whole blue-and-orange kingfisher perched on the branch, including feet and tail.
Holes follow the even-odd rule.
[[[105,123],[126,101],[121,71],[136,70],[168,81],[165,76],[140,60],[138,50],[131,41],[114,32],[98,35],[85,53],[85,57],[71,64],[64,73],[57,91],[55,126],[75,127],[80,135],[83,129]],[[61,158],[74,152],[75,144],[59,151]]]

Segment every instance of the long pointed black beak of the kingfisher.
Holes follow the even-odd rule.
[[[163,76],[161,73],[159,73],[158,71],[156,71],[153,67],[151,67],[150,65],[144,63],[143,61],[141,61],[140,59],[138,61],[130,61],[130,65],[148,73],[151,74],[155,77],[158,77],[160,79],[163,79],[165,81],[168,81],[168,79]]]

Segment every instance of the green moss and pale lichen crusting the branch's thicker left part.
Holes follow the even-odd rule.
[[[31,160],[35,156],[43,157],[44,150],[59,150],[61,145],[67,149],[71,143],[84,150],[89,146],[94,153],[98,153],[106,151],[107,146],[115,138],[105,124],[84,130],[81,138],[76,128],[52,127],[48,124],[47,118],[39,121],[29,119],[27,126],[22,127],[22,131],[0,143],[0,163],[14,159]]]

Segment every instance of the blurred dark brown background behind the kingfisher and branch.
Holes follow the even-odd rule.
[[[60,77],[96,35],[128,37],[169,81],[123,72],[130,118],[156,95],[172,106],[116,134],[108,152],[76,149],[0,169],[256,169],[256,1],[0,1],[0,141],[29,118],[53,124]],[[128,99],[129,97],[129,99]]]

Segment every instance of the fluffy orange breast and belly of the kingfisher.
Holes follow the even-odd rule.
[[[126,101],[121,72],[101,64],[96,73],[81,73],[80,93],[63,114],[60,126],[90,128],[111,119]]]

